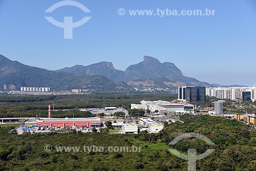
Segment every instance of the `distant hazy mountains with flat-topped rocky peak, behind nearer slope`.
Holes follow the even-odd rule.
[[[174,88],[179,86],[206,86],[211,84],[186,77],[174,63],[161,63],[151,56],[144,56],[142,62],[129,66],[125,71],[116,70],[112,62],[99,62],[89,66],[76,65],[57,72],[86,73],[102,75],[111,80],[123,81],[132,87]]]

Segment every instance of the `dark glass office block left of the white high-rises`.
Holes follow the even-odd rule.
[[[179,87],[178,100],[187,102],[204,102],[206,99],[205,87]]]

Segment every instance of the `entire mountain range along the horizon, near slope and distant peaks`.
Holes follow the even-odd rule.
[[[184,76],[174,63],[161,63],[151,56],[144,56],[142,62],[125,71],[116,70],[112,62],[50,71],[12,61],[3,55],[0,55],[0,67],[0,90],[50,87],[51,90],[134,91],[175,90],[179,86],[211,87],[207,82]]]

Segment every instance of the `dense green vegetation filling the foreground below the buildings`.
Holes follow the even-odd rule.
[[[167,125],[159,134],[141,132],[119,135],[101,133],[16,135],[14,126],[0,128],[0,170],[187,170],[187,162],[168,152],[168,143],[183,133],[200,133],[216,145],[184,139],[172,148],[184,154],[188,148],[198,153],[215,148],[214,153],[197,161],[197,170],[256,169],[256,131],[236,120],[211,116],[181,116],[184,124]],[[50,144],[53,151],[44,151]],[[142,146],[141,152],[57,152],[55,146]]]

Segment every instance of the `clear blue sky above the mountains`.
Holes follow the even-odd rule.
[[[176,64],[185,76],[220,84],[256,84],[254,0],[77,0],[91,13],[55,0],[0,0],[0,54],[26,65],[57,70],[112,61],[125,70],[144,55]],[[120,16],[117,10],[126,14]],[[215,16],[130,16],[129,10],[216,10]],[[73,39],[45,16],[63,22],[91,16]],[[1,64],[0,64],[1,65]]]

